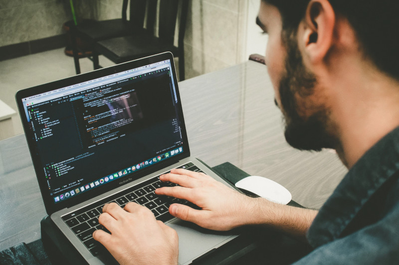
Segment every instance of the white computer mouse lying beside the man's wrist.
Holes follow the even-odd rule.
[[[235,183],[235,186],[279,204],[287,204],[292,198],[291,193],[286,188],[264,177],[249,176]]]

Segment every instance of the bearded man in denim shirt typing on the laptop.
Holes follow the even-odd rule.
[[[249,198],[172,170],[157,194],[172,215],[213,230],[264,224],[307,240],[298,264],[399,264],[399,5],[395,0],[262,0],[265,61],[287,141],[337,150],[350,169],[319,212]],[[177,264],[178,237],[135,203],[104,206],[93,237],[121,264]]]

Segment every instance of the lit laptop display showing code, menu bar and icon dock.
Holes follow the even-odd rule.
[[[158,61],[20,99],[54,204],[185,151],[172,67]]]

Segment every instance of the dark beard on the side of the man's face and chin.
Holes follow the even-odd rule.
[[[285,38],[286,70],[279,84],[285,118],[285,139],[292,147],[300,150],[320,151],[322,148],[337,148],[338,140],[331,134],[333,128],[328,125],[329,110],[325,106],[316,106],[309,100],[309,96],[314,93],[317,79],[304,65],[295,39],[292,35]],[[306,106],[298,106],[295,95],[299,96]],[[298,114],[299,107],[314,113],[309,117],[302,117]],[[330,128],[327,128],[328,126]]]

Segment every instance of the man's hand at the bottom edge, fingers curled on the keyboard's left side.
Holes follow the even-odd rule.
[[[130,202],[122,209],[106,204],[98,222],[111,232],[96,230],[93,238],[120,264],[178,264],[179,240],[175,230],[155,219],[144,206]]]

